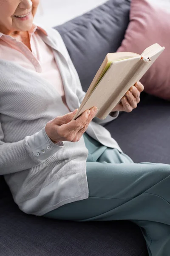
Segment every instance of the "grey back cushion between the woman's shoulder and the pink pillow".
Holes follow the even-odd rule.
[[[73,6],[74,8],[74,6]],[[55,27],[87,90],[108,52],[116,52],[129,23],[130,0],[110,0]]]

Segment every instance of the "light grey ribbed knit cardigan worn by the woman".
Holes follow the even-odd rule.
[[[54,29],[47,33],[40,36],[53,48],[73,111],[84,93],[62,38]],[[54,144],[45,132],[48,121],[66,113],[52,84],[13,61],[0,60],[0,175],[5,175],[14,201],[26,213],[43,215],[88,198],[83,137],[77,143]],[[87,131],[91,137],[119,149],[104,127],[92,123]]]

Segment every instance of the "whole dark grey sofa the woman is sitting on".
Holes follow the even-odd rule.
[[[110,0],[56,29],[86,91],[103,58],[120,46],[130,0]],[[142,93],[138,108],[106,125],[134,162],[170,163],[170,102]],[[71,222],[26,215],[0,177],[0,256],[147,256],[130,221]]]

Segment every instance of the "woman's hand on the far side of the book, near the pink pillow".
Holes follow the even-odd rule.
[[[114,111],[125,111],[131,112],[134,108],[137,107],[137,104],[140,102],[140,94],[144,90],[143,84],[137,82],[127,91],[125,96],[121,99],[121,102],[118,103],[111,112]]]

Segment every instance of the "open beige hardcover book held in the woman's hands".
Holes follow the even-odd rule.
[[[141,55],[133,52],[108,53],[72,120],[94,106],[98,108],[96,117],[105,119],[164,49],[153,44]]]

